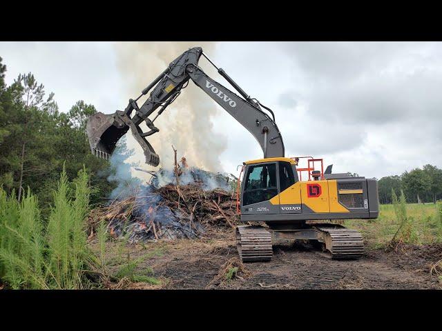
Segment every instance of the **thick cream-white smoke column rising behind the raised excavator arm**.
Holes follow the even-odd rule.
[[[117,66],[124,79],[127,99],[135,99],[141,91],[155,79],[171,61],[182,52],[196,46],[202,47],[204,52],[213,54],[215,43],[212,42],[124,42],[117,43]],[[204,63],[205,64],[205,63]],[[213,75],[210,65],[203,66],[204,71]],[[148,93],[149,94],[149,93]],[[148,97],[148,96],[146,96]],[[139,106],[146,97],[138,101]],[[119,106],[124,109],[126,105]],[[182,90],[180,96],[155,120],[155,126],[160,132],[148,137],[149,143],[160,155],[160,167],[173,167],[173,150],[178,151],[178,159],[185,156],[197,168],[211,172],[222,171],[220,154],[227,145],[227,138],[213,132],[211,119],[217,112],[217,104],[210,99],[193,82]],[[151,119],[156,112],[151,115]],[[145,132],[148,130],[142,123],[140,126]],[[130,131],[129,131],[130,132]],[[146,170],[157,170],[145,164],[142,148],[128,132],[127,143],[134,148],[135,153],[128,159],[130,163],[138,163]],[[132,169],[135,177],[148,179],[144,172]]]

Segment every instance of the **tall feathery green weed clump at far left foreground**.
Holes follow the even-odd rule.
[[[0,188],[0,277],[10,288],[77,289],[88,283],[87,270],[96,270],[86,245],[89,175],[80,170],[69,183],[61,172],[46,226],[37,197],[30,190],[17,202]]]

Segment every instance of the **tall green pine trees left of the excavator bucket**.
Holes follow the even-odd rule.
[[[87,118],[97,110],[78,101],[61,112],[54,94],[33,74],[20,74],[10,86],[5,82],[6,65],[0,57],[0,186],[8,195],[23,199],[25,190],[37,194],[40,205],[48,205],[66,167],[72,181],[86,167],[95,190],[91,202],[106,197],[114,185],[106,178],[115,170],[94,157],[86,136]]]

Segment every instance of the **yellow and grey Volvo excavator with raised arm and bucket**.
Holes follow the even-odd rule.
[[[204,73],[198,65],[201,56],[240,95]],[[86,132],[93,154],[108,159],[117,141],[130,129],[144,150],[146,163],[159,165],[160,157],[146,137],[160,131],[154,125],[155,119],[180,95],[189,80],[240,122],[262,148],[262,159],[242,163],[238,181],[237,210],[244,224],[236,228],[240,259],[269,261],[273,256],[272,242],[280,239],[314,241],[332,259],[362,257],[361,233],[329,221],[376,219],[379,213],[376,179],[332,174],[332,165],[323,170],[322,159],[285,157],[284,142],[273,111],[244,92],[200,47],[190,48],[173,60],[137,99],[129,100],[124,111],[92,115]],[[139,107],[137,101],[149,91],[148,98]],[[158,110],[155,117],[149,119],[155,110]],[[140,128],[143,121],[148,132]],[[307,168],[298,167],[301,158],[307,159]],[[320,170],[315,169],[318,163]],[[302,172],[307,172],[304,180]]]

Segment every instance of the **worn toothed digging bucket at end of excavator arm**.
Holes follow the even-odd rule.
[[[119,120],[117,114],[103,114],[97,112],[89,117],[86,125],[90,150],[102,159],[109,159],[115,150],[117,141],[129,130],[123,121]]]

